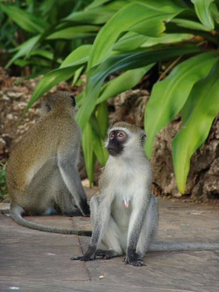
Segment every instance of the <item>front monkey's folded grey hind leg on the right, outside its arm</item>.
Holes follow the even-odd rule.
[[[149,250],[150,244],[157,234],[158,228],[158,203],[157,198],[152,194],[146,210],[146,217],[140,237],[138,240],[136,253],[142,259]]]

